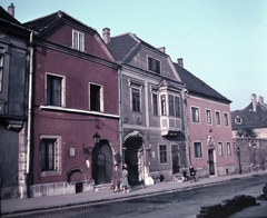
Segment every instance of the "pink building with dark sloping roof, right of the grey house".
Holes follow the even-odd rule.
[[[199,177],[235,172],[230,100],[184,68],[174,63],[187,89],[185,95],[189,162]]]

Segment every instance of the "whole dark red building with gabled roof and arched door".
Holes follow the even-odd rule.
[[[65,12],[24,24],[38,32],[30,196],[110,184],[120,161],[118,65],[96,30]]]

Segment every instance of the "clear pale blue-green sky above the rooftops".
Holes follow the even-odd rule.
[[[267,102],[267,0],[1,0],[27,22],[63,11],[110,36],[126,32],[159,48],[174,62],[231,100],[239,110],[251,93]]]

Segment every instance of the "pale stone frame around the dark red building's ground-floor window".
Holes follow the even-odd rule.
[[[53,170],[47,170],[47,171],[41,171],[41,146],[42,146],[42,140],[55,140],[55,169]],[[40,136],[40,149],[39,149],[39,171],[41,177],[47,177],[47,176],[56,176],[56,175],[61,175],[61,136],[49,136],[49,135],[41,135]]]

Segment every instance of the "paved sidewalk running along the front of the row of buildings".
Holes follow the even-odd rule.
[[[13,214],[19,211],[31,211],[38,209],[48,209],[48,208],[57,208],[57,207],[68,207],[75,205],[82,204],[96,204],[102,201],[110,200],[119,200],[139,196],[146,196],[148,194],[160,194],[168,192],[171,190],[182,190],[185,188],[192,187],[201,187],[217,182],[224,182],[231,179],[241,179],[247,177],[253,177],[256,175],[265,175],[267,176],[267,170],[257,171],[251,174],[243,174],[243,175],[227,175],[221,177],[211,177],[211,178],[201,178],[197,182],[159,182],[152,186],[147,186],[145,188],[134,187],[134,189],[129,194],[113,194],[111,190],[100,190],[100,191],[91,191],[91,192],[80,192],[75,195],[63,195],[63,196],[47,196],[47,197],[37,197],[37,198],[16,198],[16,199],[6,199],[1,201],[1,212],[2,215]],[[266,180],[267,182],[267,180]],[[264,186],[263,186],[264,187]],[[257,196],[255,196],[257,197]],[[263,206],[257,207],[258,210],[265,210],[267,217],[267,204],[263,204]],[[260,209],[259,209],[260,208]],[[249,210],[249,208],[248,208]],[[240,216],[241,217],[241,216]],[[235,217],[235,218],[238,218]]]

